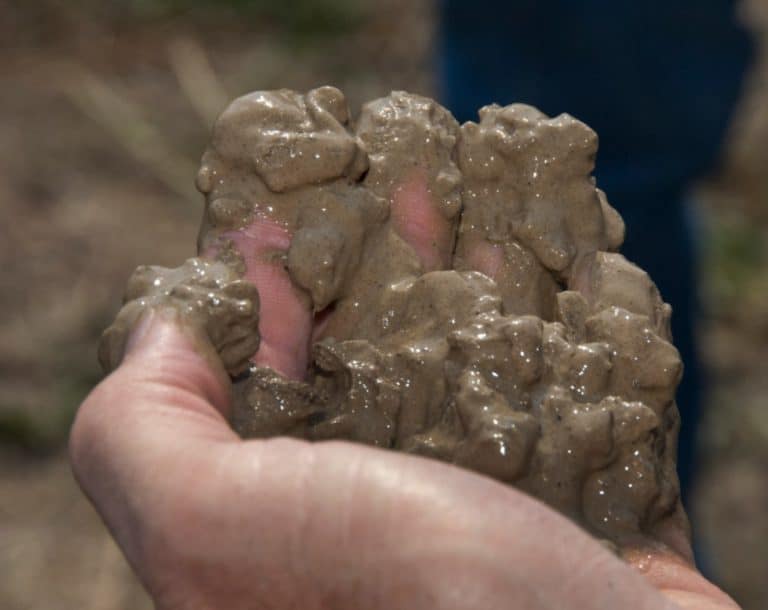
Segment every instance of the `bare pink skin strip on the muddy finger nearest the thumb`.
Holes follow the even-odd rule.
[[[230,240],[245,265],[245,278],[259,290],[261,344],[252,361],[292,379],[303,379],[309,356],[312,312],[297,291],[282,255],[291,235],[280,224],[257,218],[247,227],[209,239],[206,254],[215,256],[223,240]]]

